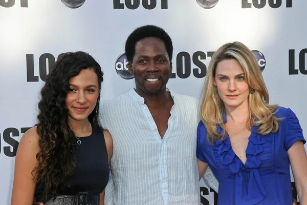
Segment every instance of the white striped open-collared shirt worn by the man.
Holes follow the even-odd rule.
[[[106,205],[200,204],[198,103],[190,96],[170,94],[174,105],[163,139],[134,89],[101,103],[102,127],[113,138]]]

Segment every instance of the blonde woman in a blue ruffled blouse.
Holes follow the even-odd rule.
[[[289,108],[269,105],[252,52],[242,43],[212,56],[201,102],[198,166],[220,182],[219,204],[292,204],[290,166],[307,204],[305,139]]]

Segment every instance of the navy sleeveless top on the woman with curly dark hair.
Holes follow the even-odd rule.
[[[74,175],[64,182],[60,195],[78,194],[87,192],[87,203],[99,204],[99,194],[104,190],[109,178],[108,154],[102,128],[92,124],[92,134],[88,137],[80,137],[81,144],[75,141],[76,169]],[[35,190],[37,202],[46,203],[43,194],[44,186],[38,186]]]

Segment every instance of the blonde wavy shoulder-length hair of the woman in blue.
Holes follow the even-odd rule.
[[[254,94],[249,94],[248,104],[250,117],[247,127],[259,126],[257,132],[260,135],[277,132],[278,120],[275,117],[277,105],[269,105],[269,93],[262,78],[256,58],[251,50],[240,42],[228,43],[217,49],[210,60],[207,76],[201,96],[201,119],[207,129],[208,139],[213,141],[223,140],[226,137],[226,130],[223,121],[225,106],[218,94],[214,94],[213,79],[215,77],[216,66],[222,60],[235,59],[242,66],[246,82],[250,89],[254,89]],[[254,120],[256,119],[256,120]],[[223,132],[216,132],[217,125],[220,125]]]

